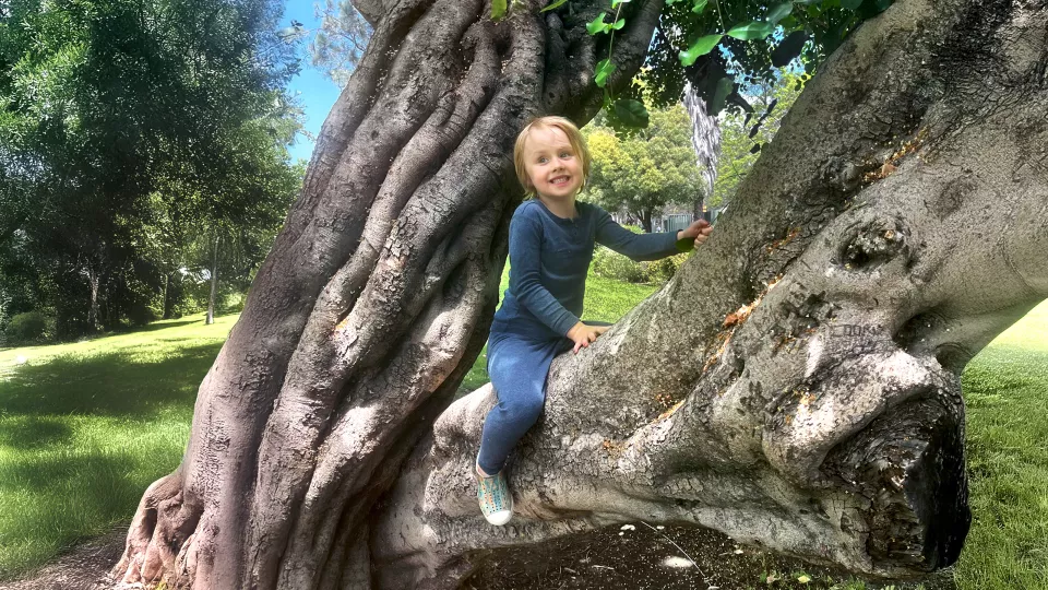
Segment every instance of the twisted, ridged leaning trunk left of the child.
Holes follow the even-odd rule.
[[[366,580],[372,505],[487,338],[521,198],[516,132],[602,104],[596,3],[575,2],[570,25],[544,4],[497,23],[478,0],[368,3],[384,14],[201,385],[183,462],[139,507],[121,579]],[[640,67],[660,8],[626,7],[612,85]]]

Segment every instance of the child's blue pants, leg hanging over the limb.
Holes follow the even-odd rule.
[[[609,323],[587,321],[592,326]],[[524,437],[546,401],[546,376],[553,357],[574,343],[548,329],[501,330],[496,322],[488,337],[488,376],[499,403],[488,412],[480,435],[477,464],[489,475],[505,465],[505,459]]]

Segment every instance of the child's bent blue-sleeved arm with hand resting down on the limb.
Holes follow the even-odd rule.
[[[514,215],[510,221],[510,291],[550,330],[568,335],[568,331],[579,323],[579,318],[543,286],[539,280],[541,248],[539,223],[527,215]]]

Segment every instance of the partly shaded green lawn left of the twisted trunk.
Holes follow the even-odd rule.
[[[174,470],[236,316],[0,351],[0,579],[127,521]]]

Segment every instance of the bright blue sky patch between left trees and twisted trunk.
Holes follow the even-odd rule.
[[[313,15],[313,0],[287,0],[284,8],[284,17],[282,27],[290,26],[291,20],[296,20],[306,25],[306,28],[314,31],[320,26],[320,19]],[[302,72],[296,75],[288,84],[287,88],[293,95],[297,95],[302,107],[306,110],[306,129],[315,137],[320,133],[320,126],[323,125],[327,114],[331,113],[332,105],[338,98],[338,86],[335,85],[323,73],[309,64],[309,56],[306,45],[302,45]],[[313,153],[313,141],[299,133],[295,145],[291,146],[291,160],[309,161]]]

